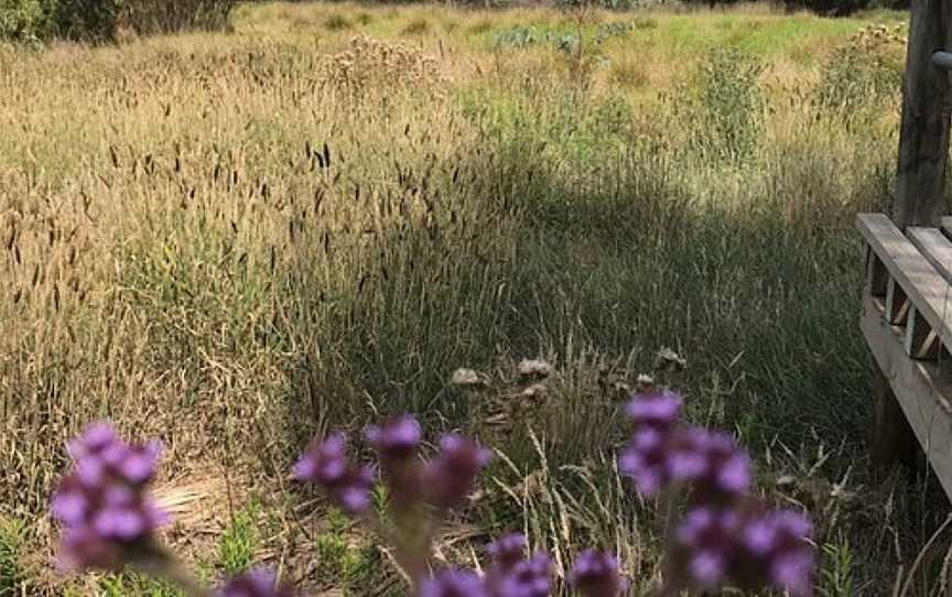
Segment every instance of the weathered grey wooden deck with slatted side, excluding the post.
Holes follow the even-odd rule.
[[[952,218],[906,235],[883,214],[856,225],[868,247],[863,334],[952,497]]]

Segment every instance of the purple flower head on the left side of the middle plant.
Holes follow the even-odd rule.
[[[339,433],[314,442],[292,468],[299,481],[321,486],[328,497],[348,514],[360,514],[370,507],[370,487],[376,474],[347,462],[346,441]]]

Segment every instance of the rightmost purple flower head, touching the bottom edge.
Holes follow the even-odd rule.
[[[814,551],[812,525],[799,512],[777,510],[750,522],[743,544],[767,582],[791,595],[810,595]]]

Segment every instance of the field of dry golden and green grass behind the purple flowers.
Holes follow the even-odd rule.
[[[818,40],[865,44],[848,39],[863,20],[638,19],[593,48],[607,65],[593,56],[584,93],[553,44],[500,42],[571,32],[547,9],[269,3],[232,35],[0,48],[0,519],[36,521],[23,590],[69,586],[37,514],[64,441],[97,417],[165,442],[170,539],[209,575],[255,497],[260,554],[333,588],[307,554],[368,542],[282,497],[288,465],[314,434],[399,411],[506,455],[446,558],[522,528],[560,569],[582,543],[613,546],[646,587],[658,521],[610,454],[617,388],[663,346],[689,359],[666,381],[691,416],[735,431],[821,543],[848,540],[855,594],[891,586],[935,521],[928,492],[865,468],[851,219],[888,198],[896,93],[867,90],[897,58],[830,74],[840,54]],[[753,87],[705,78],[696,50],[724,44],[765,64]],[[515,363],[538,355],[556,373],[526,393]],[[461,366],[489,388],[447,386]],[[941,543],[910,594],[934,593]],[[332,572],[399,593],[365,555]]]

